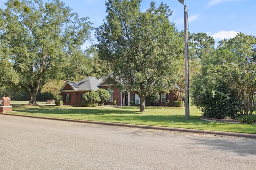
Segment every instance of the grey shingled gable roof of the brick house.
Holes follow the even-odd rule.
[[[60,91],[66,91],[67,84],[72,88],[71,91],[96,91],[100,88],[99,84],[103,81],[102,78],[86,77],[79,82],[66,81]],[[70,90],[69,90],[70,91]]]

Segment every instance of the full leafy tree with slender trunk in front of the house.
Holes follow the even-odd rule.
[[[172,12],[166,4],[156,8],[151,2],[142,12],[140,3],[108,0],[108,15],[96,29],[96,38],[100,58],[110,63],[112,76],[122,89],[138,94],[140,111],[144,111],[145,98],[152,90],[170,87],[182,38],[168,19]]]

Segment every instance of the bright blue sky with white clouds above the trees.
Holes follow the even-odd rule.
[[[45,0],[47,1],[47,0]],[[89,16],[93,27],[103,23],[106,16],[105,0],[62,0],[80,17]],[[142,0],[140,10],[145,11],[152,0]],[[4,8],[3,0],[0,8]],[[156,7],[161,2],[173,11],[170,21],[178,31],[184,30],[184,6],[178,0],[154,0]],[[238,32],[256,36],[256,0],[184,0],[188,9],[188,29],[191,33],[204,32],[215,41],[229,39]],[[94,37],[94,32],[92,32]],[[94,41],[94,43],[96,43]],[[89,46],[87,42],[84,46]]]

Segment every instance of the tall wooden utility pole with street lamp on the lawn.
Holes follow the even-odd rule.
[[[184,0],[178,0],[184,5]],[[184,5],[184,37],[185,37],[185,118],[189,119],[189,78],[188,78],[188,10],[187,6]]]

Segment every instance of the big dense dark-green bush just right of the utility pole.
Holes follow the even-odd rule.
[[[234,118],[241,109],[241,102],[230,87],[222,65],[209,63],[204,64],[201,73],[192,79],[192,103],[205,117]]]

